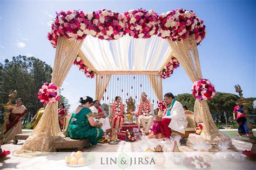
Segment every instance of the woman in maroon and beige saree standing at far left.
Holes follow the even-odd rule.
[[[15,134],[22,133],[22,118],[26,116],[26,107],[22,104],[23,100],[16,100],[16,107],[11,110],[9,115],[9,123],[6,124],[4,132],[4,143],[14,139]]]

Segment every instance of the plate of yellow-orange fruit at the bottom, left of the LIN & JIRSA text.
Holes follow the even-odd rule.
[[[66,165],[71,167],[85,166],[93,161],[95,161],[94,154],[88,153],[84,156],[82,151],[72,152],[65,158]]]

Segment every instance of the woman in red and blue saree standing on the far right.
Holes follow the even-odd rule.
[[[234,116],[234,120],[237,119],[238,136],[241,137],[243,134],[245,134],[247,137],[249,137],[250,133],[246,126],[246,118],[242,110],[243,107],[244,107],[243,105],[239,105],[237,103],[237,105],[234,107],[233,116]],[[235,118],[235,114],[237,115],[237,118]]]

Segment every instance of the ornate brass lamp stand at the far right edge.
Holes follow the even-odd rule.
[[[250,157],[250,158],[256,158],[256,137],[253,135],[252,129],[253,129],[253,125],[250,123],[249,120],[249,112],[248,112],[248,108],[246,107],[246,105],[250,104],[250,100],[245,99],[244,97],[242,97],[242,89],[239,86],[239,84],[235,85],[235,92],[237,92],[240,96],[240,99],[237,101],[237,103],[239,105],[243,105],[242,111],[244,112],[245,118],[246,118],[246,126],[247,129],[249,130],[250,133],[250,141],[252,143],[252,148],[251,151],[243,151],[242,153],[244,153],[246,156]]]

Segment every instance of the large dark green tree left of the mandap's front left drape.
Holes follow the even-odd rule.
[[[51,81],[52,68],[45,62],[27,56],[14,56],[12,61],[0,63],[0,103],[8,102],[9,90],[17,90],[17,98],[22,98],[30,116],[34,116],[43,104],[37,92],[44,82]],[[68,100],[62,96],[67,105]]]

